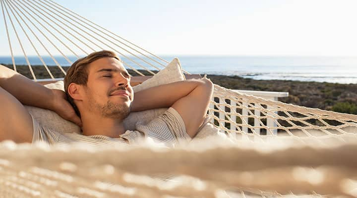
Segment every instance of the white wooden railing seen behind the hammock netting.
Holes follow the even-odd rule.
[[[288,92],[261,92],[261,91],[247,91],[247,90],[233,90],[235,92],[238,92],[238,93],[241,93],[241,94],[246,94],[246,95],[253,95],[253,96],[256,96],[256,97],[260,97],[260,98],[263,98],[263,99],[270,99],[270,100],[274,100],[274,101],[278,101],[279,98],[283,98],[283,97],[288,97],[289,96],[289,93]],[[218,103],[225,103],[225,100],[227,102],[227,99],[224,99],[224,98],[219,98],[219,97],[214,97],[217,99],[219,99]],[[231,106],[236,106],[237,104],[234,102],[234,101],[228,101],[228,102],[231,102]],[[247,103],[243,103],[242,104],[243,108],[241,108],[241,117],[240,119],[242,120],[242,122],[245,122],[245,123],[248,123],[248,108],[244,108],[245,107],[248,107],[248,104]],[[210,104],[210,108],[214,109],[214,105],[211,103]],[[267,106],[266,107],[267,109],[271,108],[270,106]],[[220,106],[220,109],[221,110],[225,110],[226,107],[224,105]],[[231,109],[231,112],[233,109]],[[258,110],[254,110],[254,126],[255,127],[258,127],[260,126],[260,122],[259,122],[259,116],[260,116],[260,111]],[[221,119],[221,120],[225,120],[225,115],[223,113],[219,113],[218,117]],[[231,115],[231,120],[233,121],[236,121],[237,120],[237,116],[236,115]],[[212,122],[214,122],[214,119],[212,118]],[[274,129],[274,127],[277,127],[277,124],[274,122],[274,119],[272,118],[268,118],[267,121],[267,127],[269,128],[272,128],[271,129],[271,132],[273,133],[273,135],[277,135],[277,129]],[[225,126],[226,122],[224,121],[220,121],[218,122],[219,125],[222,125],[222,126]],[[231,123],[230,126],[228,127],[228,129],[231,129],[231,130],[237,130],[236,129],[236,126],[235,126],[235,123]],[[242,127],[241,130],[245,133],[248,133],[248,128],[247,127]],[[260,128],[254,128],[254,132],[256,134],[261,134],[261,130]]]

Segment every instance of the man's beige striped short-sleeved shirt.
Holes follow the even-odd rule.
[[[103,135],[83,136],[76,133],[59,133],[51,128],[41,126],[33,116],[32,119],[32,143],[45,142],[50,145],[89,144],[96,147],[108,147],[126,143],[135,144],[142,141],[143,138],[151,138],[155,142],[174,147],[181,140],[184,142],[191,140],[186,133],[185,124],[181,116],[172,107],[149,123],[136,123],[136,131],[127,130],[120,138],[110,138]]]

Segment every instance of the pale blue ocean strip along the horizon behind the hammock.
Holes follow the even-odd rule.
[[[161,56],[171,61],[175,56]],[[330,83],[357,83],[357,56],[178,56],[182,68],[192,74],[236,75],[256,80],[294,80]],[[46,64],[55,65],[49,57]],[[70,65],[63,57],[56,56],[62,66]],[[68,56],[72,61],[74,56]],[[130,57],[145,66],[138,58]],[[126,58],[123,61],[141,69]],[[41,65],[37,56],[29,56],[32,65]],[[16,56],[17,65],[26,64],[23,56]],[[0,56],[0,64],[12,64],[10,56]],[[27,65],[27,64],[26,64]],[[154,69],[148,67],[149,69]],[[162,68],[162,67],[159,67]]]

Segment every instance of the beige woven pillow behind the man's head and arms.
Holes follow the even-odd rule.
[[[135,93],[150,87],[173,83],[184,79],[185,77],[182,74],[182,68],[179,59],[174,58],[174,60],[171,61],[171,63],[169,63],[166,68],[162,69],[152,78],[144,81],[142,84],[134,86],[133,90]],[[64,91],[63,81],[47,84],[45,85],[45,87]],[[40,123],[41,126],[48,127],[60,133],[81,133],[80,128],[76,124],[64,120],[54,111],[34,106],[25,105],[25,107],[31,113],[31,115]],[[135,123],[137,121],[140,120],[143,122],[149,122],[155,117],[163,114],[166,109],[167,108],[158,108],[140,112],[132,112],[127,118],[123,120],[123,124],[127,130],[133,131],[135,130]]]

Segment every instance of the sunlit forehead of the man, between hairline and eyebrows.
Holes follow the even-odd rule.
[[[95,73],[100,69],[116,69],[119,71],[126,71],[123,64],[116,58],[103,57],[88,64],[88,73]]]

